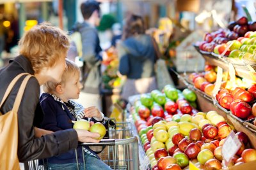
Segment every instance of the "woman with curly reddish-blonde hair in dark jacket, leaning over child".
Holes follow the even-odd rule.
[[[36,25],[20,39],[20,55],[0,70],[0,100],[3,99],[4,92],[15,76],[20,73],[34,75],[26,85],[18,111],[20,162],[60,155],[77,148],[78,141],[99,142],[94,139],[99,138],[99,134],[75,129],[40,135],[40,138],[36,138],[35,126],[40,125],[44,117],[39,103],[40,85],[47,81],[61,81],[68,47],[68,36],[61,29],[45,23]],[[23,79],[24,76],[15,84],[8,99],[0,108],[1,113],[5,114],[12,110]]]

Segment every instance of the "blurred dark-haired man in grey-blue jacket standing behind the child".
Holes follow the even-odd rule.
[[[81,33],[82,39],[82,59],[85,62],[85,68],[82,73],[83,90],[80,94],[79,101],[84,106],[96,106],[101,110],[100,97],[100,64],[102,61],[102,49],[96,26],[100,22],[100,6],[97,1],[88,0],[81,4],[81,12],[84,22],[74,26],[75,31]]]

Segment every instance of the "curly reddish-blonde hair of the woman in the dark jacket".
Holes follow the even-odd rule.
[[[69,46],[67,33],[47,22],[35,25],[19,41],[20,54],[30,60],[35,73],[66,57]]]

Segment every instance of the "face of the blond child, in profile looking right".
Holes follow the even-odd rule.
[[[61,89],[63,91],[63,101],[79,98],[80,89],[82,87],[79,78],[79,73],[70,73],[65,84],[61,85]]]

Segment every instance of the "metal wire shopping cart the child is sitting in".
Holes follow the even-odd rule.
[[[111,120],[115,122],[115,119]],[[112,169],[139,169],[138,137],[133,135],[131,123],[108,124],[108,138],[102,139],[99,143],[79,143],[79,146],[82,146],[82,149],[84,146],[90,146],[96,152],[100,150],[98,154],[100,159]],[[47,167],[47,159],[43,164],[42,162],[39,164],[38,160],[31,160],[24,164],[25,170],[47,170]]]

